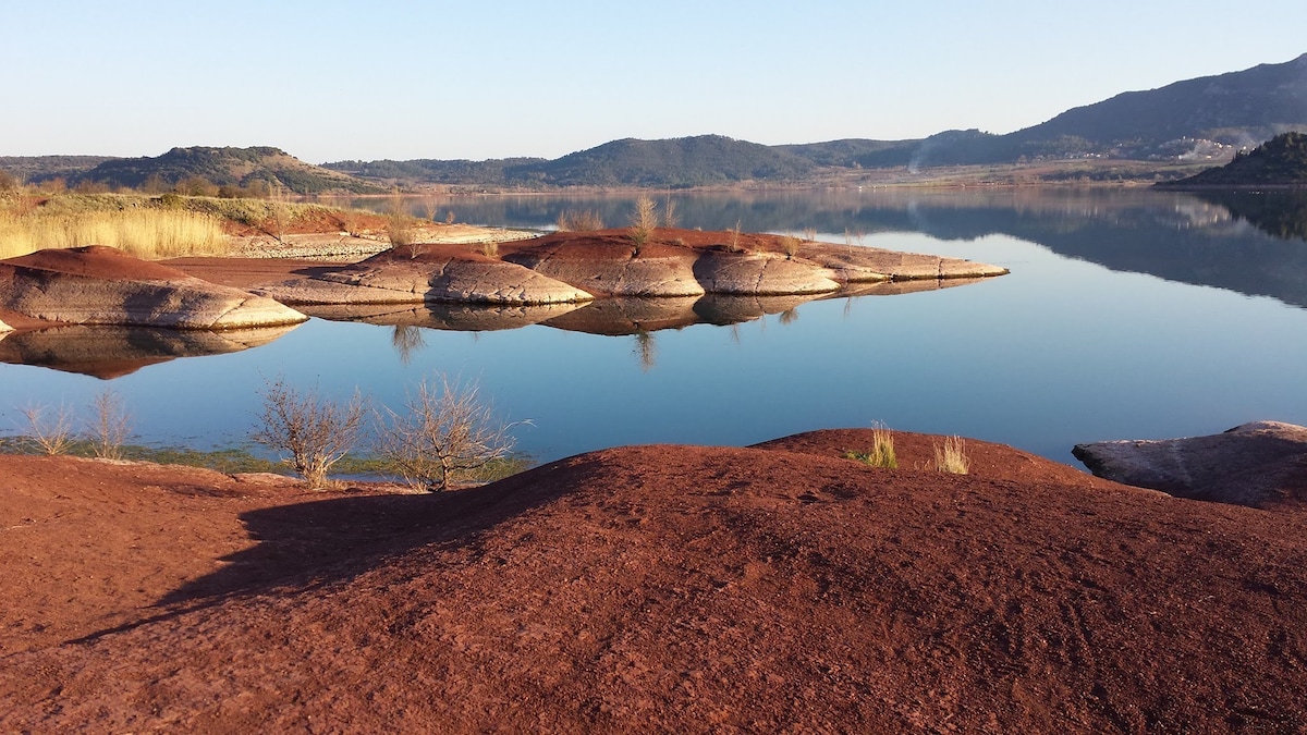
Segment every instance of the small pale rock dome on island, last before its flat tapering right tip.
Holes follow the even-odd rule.
[[[839,290],[827,268],[771,252],[704,251],[694,264],[703,290],[720,294],[792,296]]]

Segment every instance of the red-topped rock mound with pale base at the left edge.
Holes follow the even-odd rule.
[[[101,246],[0,260],[0,309],[68,324],[174,330],[233,330],[307,319],[271,298]]]

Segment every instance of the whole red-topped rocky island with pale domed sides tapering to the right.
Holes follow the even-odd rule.
[[[1006,269],[970,260],[783,235],[655,229],[553,233],[467,247],[395,247],[359,263],[256,289],[291,305],[575,303],[610,297],[818,296],[851,284],[975,279]]]

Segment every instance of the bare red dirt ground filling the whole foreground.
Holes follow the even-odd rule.
[[[0,581],[0,725],[1307,727],[1300,515],[980,442],[972,476],[823,456],[869,441],[622,447],[282,505],[212,473],[0,458],[0,549],[25,569]]]

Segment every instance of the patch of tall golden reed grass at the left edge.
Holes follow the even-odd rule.
[[[227,237],[217,217],[176,209],[43,213],[0,211],[0,258],[47,247],[106,245],[156,260],[183,255],[217,255]]]

